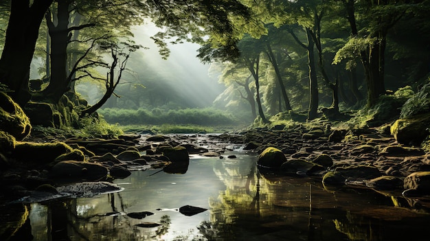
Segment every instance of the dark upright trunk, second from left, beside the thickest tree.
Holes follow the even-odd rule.
[[[47,100],[57,103],[60,97],[69,90],[67,82],[67,45],[69,44],[69,1],[58,1],[57,25],[52,23],[51,14],[46,21],[51,36],[51,78],[48,87],[43,91]]]

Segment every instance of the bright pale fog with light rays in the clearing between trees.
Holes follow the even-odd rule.
[[[124,74],[121,80],[122,84],[115,91],[117,95],[121,96],[117,100],[120,103],[118,106],[120,108],[127,108],[127,106],[130,106],[130,108],[139,107],[126,104],[130,89],[130,87],[126,88],[127,84],[143,86],[142,95],[164,95],[161,97],[174,102],[181,108],[211,106],[225,87],[218,83],[216,76],[209,76],[208,69],[210,65],[204,65],[196,58],[196,50],[200,46],[193,43],[168,44],[170,56],[165,60],[159,54],[157,45],[150,38],[157,31],[157,27],[152,23],[133,28],[133,33],[135,34],[133,40],[136,44],[145,48],[131,54],[127,62],[129,71]],[[95,85],[93,85],[93,88],[95,88]],[[157,88],[157,91],[154,88]],[[90,104],[93,104],[104,90],[100,90],[100,87],[98,87],[98,91],[91,89],[88,83],[81,83],[76,86],[76,91],[87,98]],[[164,91],[160,91],[160,89],[164,89]],[[152,93],[150,93],[151,91]],[[141,97],[144,98],[145,96]],[[159,98],[160,96],[157,97]],[[112,96],[111,98],[117,97]],[[126,106],[122,106],[121,103]],[[158,102],[153,105],[162,104],[166,103]],[[109,105],[104,107],[106,106]]]

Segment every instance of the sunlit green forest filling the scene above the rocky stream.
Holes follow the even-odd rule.
[[[32,124],[56,128],[97,111],[119,124],[185,124],[169,117],[181,113],[203,115],[190,120],[201,125],[269,124],[278,113],[342,119],[427,83],[427,10],[427,1],[3,1],[1,87]],[[133,27],[148,22],[162,58],[172,45],[200,46],[186,54],[222,84],[205,87],[219,89],[213,103],[188,100],[203,90],[184,94],[175,73],[138,58],[148,47]],[[230,114],[208,123],[208,113]]]

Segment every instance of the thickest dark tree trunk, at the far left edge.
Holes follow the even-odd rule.
[[[13,92],[10,96],[25,105],[30,100],[30,64],[43,16],[53,0],[11,1],[8,29],[0,58],[0,82]]]

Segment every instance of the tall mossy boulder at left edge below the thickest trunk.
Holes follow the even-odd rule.
[[[32,130],[30,119],[9,95],[0,91],[0,130],[21,141]]]

